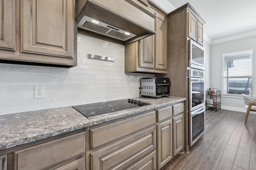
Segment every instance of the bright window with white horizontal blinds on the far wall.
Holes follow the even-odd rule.
[[[222,54],[222,93],[252,95],[252,50]]]

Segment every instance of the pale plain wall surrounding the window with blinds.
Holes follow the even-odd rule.
[[[232,41],[212,44],[210,46],[210,82],[213,88],[222,90],[222,53],[254,49],[253,66],[256,66],[256,35]],[[255,68],[255,67],[254,67]],[[256,69],[253,69],[253,94],[256,95]],[[221,97],[221,108],[234,111],[243,111],[242,98]]]

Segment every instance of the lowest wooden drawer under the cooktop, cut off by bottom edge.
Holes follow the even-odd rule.
[[[156,151],[129,167],[127,170],[155,170],[156,169]]]

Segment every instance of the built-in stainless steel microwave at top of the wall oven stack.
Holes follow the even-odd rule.
[[[204,47],[188,40],[188,67],[204,70]]]

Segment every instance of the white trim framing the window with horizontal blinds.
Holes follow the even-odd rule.
[[[221,86],[222,86],[222,92],[224,92],[224,87],[223,87],[223,55],[227,55],[227,54],[233,54],[233,53],[242,53],[242,52],[246,52],[246,51],[252,51],[252,64],[253,64],[253,49],[247,49],[247,50],[242,50],[242,51],[234,51],[234,52],[229,52],[229,53],[222,53],[221,56],[222,56],[222,82],[221,82]],[[252,78],[251,78],[251,82],[253,82],[253,65],[252,65]],[[253,95],[253,88],[252,88],[252,95]],[[221,94],[221,97],[224,97],[224,98],[242,98],[242,94]]]

